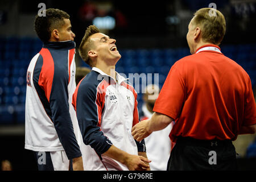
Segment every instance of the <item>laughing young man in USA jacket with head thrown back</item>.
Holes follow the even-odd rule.
[[[121,58],[115,42],[89,26],[79,47],[80,56],[92,67],[72,100],[88,145],[85,170],[148,170],[144,140],[135,142],[131,135],[139,122],[137,93],[115,72]]]

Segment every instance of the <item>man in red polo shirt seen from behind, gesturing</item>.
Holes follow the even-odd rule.
[[[187,34],[192,55],[172,66],[151,119],[133,127],[140,141],[175,121],[170,138],[176,145],[167,170],[237,169],[232,140],[256,131],[250,77],[218,47],[225,30],[220,11],[196,11]]]

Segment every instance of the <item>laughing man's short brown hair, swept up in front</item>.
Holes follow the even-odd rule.
[[[88,52],[92,48],[93,44],[91,40],[88,38],[89,36],[99,32],[100,30],[94,25],[90,25],[89,27],[87,27],[84,38],[82,38],[81,44],[79,46],[79,54],[82,60],[84,60],[85,63],[87,63],[90,67],[92,67],[92,60],[90,60],[90,57],[88,56]]]

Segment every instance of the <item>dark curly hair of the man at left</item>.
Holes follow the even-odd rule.
[[[65,11],[47,9],[46,16],[35,16],[35,32],[43,42],[47,42],[51,38],[51,32],[65,24],[64,19],[69,19],[69,15]]]

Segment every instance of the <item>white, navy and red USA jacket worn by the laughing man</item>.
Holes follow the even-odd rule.
[[[112,144],[129,154],[138,155],[146,148],[135,142],[131,128],[139,122],[137,93],[117,73],[117,82],[98,68],[84,77],[73,94],[77,120],[84,143],[85,170],[128,170],[112,158],[101,155]]]

